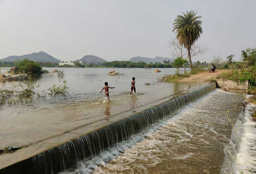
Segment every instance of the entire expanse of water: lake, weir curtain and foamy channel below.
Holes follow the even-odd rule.
[[[114,77],[106,74],[109,70],[66,68],[61,79],[43,74],[36,79],[41,83],[38,90],[59,80],[67,80],[72,90],[65,96],[2,106],[0,146],[23,148],[0,155],[0,173],[255,170],[255,163],[248,160],[255,158],[255,127],[248,121],[249,113],[241,111],[241,92],[224,92],[215,84],[156,83],[163,74],[147,73],[153,70],[120,68],[118,72],[126,75]],[[127,95],[133,76],[138,94]],[[104,81],[116,86],[107,103],[99,94]]]

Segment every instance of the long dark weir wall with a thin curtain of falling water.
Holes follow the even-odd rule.
[[[131,117],[8,165],[0,169],[0,174],[55,174],[75,166],[79,167],[78,161],[86,161],[103,152],[104,149],[109,149],[131,138],[132,135],[146,130],[159,120],[172,117],[188,104],[204,97],[215,88],[215,83],[208,84]]]

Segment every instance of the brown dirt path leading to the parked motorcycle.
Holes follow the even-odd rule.
[[[224,71],[228,71],[228,70],[226,69],[216,70],[214,73],[209,73],[209,71],[206,71],[199,74],[191,75],[190,77],[186,77],[182,80],[179,80],[179,82],[207,82],[209,78],[213,76],[217,76]]]

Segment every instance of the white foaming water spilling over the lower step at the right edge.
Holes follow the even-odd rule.
[[[248,108],[243,108],[241,110],[235,126],[232,128],[230,142],[224,148],[225,158],[222,164],[221,174],[235,174],[240,173],[240,171],[245,174],[252,173],[248,171],[250,169],[255,170],[255,123],[251,121],[251,114],[254,109],[256,109],[256,106],[250,105]],[[250,122],[252,124],[250,124]],[[251,134],[248,134],[248,132],[245,131],[245,128],[249,129]],[[251,152],[245,154],[241,152],[240,156],[237,156],[242,148]],[[242,151],[244,151],[244,149],[242,149]],[[241,157],[241,161],[244,162],[244,164],[242,163],[242,166],[240,166],[241,168],[239,169],[240,171],[238,171],[237,158]],[[249,159],[248,161],[250,162],[245,161],[245,159]]]

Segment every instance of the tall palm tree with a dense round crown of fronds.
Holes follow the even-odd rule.
[[[182,12],[183,13],[183,12]],[[173,23],[173,30],[176,30],[176,39],[179,41],[180,45],[183,45],[188,50],[188,57],[191,69],[193,69],[190,48],[195,43],[197,39],[200,38],[203,29],[201,27],[202,21],[198,18],[202,16],[195,16],[197,12],[193,10],[190,12],[183,13],[184,16],[178,15]]]

